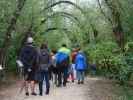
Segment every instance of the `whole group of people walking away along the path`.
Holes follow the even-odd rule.
[[[37,95],[35,83],[39,84],[39,95],[42,96],[44,79],[46,95],[50,91],[50,80],[53,80],[57,87],[66,86],[69,77],[72,82],[77,79],[78,84],[84,84],[87,63],[85,54],[79,47],[71,52],[67,45],[63,44],[59,50],[50,50],[47,43],[42,43],[41,47],[37,48],[33,46],[33,38],[28,37],[20,52],[19,61],[24,69],[26,96],[29,96],[29,84],[31,95]]]

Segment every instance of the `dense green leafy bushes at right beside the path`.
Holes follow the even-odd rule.
[[[90,45],[86,51],[90,63],[95,62],[97,65],[97,74],[125,83],[133,72],[133,55],[129,48],[123,53],[116,43],[102,42],[93,47]]]

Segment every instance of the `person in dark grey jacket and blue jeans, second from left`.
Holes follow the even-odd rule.
[[[46,82],[46,92],[45,94],[49,94],[50,82],[49,82],[49,66],[50,66],[50,53],[47,47],[47,44],[42,44],[40,53],[39,53],[39,91],[40,96],[43,95],[43,80],[45,78]]]

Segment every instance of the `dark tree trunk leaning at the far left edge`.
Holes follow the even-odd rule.
[[[21,10],[24,7],[26,0],[18,0],[17,3],[17,8],[13,13],[13,17],[10,21],[10,24],[7,28],[7,31],[5,32],[5,38],[4,38],[4,42],[1,48],[1,52],[0,52],[0,64],[5,67],[5,62],[6,62],[6,57],[7,57],[7,51],[8,48],[10,46],[10,42],[11,42],[11,33],[14,30],[14,27],[16,25],[17,19],[20,16]]]

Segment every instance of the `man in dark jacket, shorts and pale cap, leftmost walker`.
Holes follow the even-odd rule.
[[[22,48],[20,53],[20,61],[24,66],[24,79],[26,96],[29,96],[28,83],[31,85],[31,94],[36,95],[35,88],[35,70],[36,70],[37,51],[33,46],[32,37],[28,37],[26,45]]]

